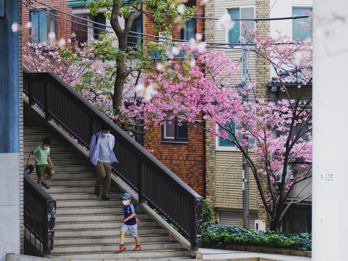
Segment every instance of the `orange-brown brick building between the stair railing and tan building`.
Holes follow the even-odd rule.
[[[197,17],[204,17],[204,5],[199,1],[190,0],[186,6],[197,8]],[[152,22],[146,17],[144,21],[144,33],[153,35]],[[196,33],[204,35],[205,25],[203,19],[193,18],[187,21],[181,28],[175,24],[172,30],[174,39],[190,40]],[[204,37],[204,36],[203,36]],[[202,39],[204,41],[204,38]],[[174,58],[174,64],[187,64],[186,58]],[[199,62],[197,62],[199,66]],[[199,121],[203,116],[198,117]],[[204,121],[203,123],[204,124]],[[171,169],[180,179],[187,183],[201,196],[206,195],[205,190],[205,132],[192,124],[178,126],[173,122],[164,122],[162,126],[154,126],[144,137],[144,147],[160,160],[166,167]]]

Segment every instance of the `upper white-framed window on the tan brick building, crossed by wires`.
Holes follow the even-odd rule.
[[[253,19],[255,18],[255,8],[254,7],[240,7],[227,9],[227,13],[231,15],[232,19]],[[239,41],[239,37],[242,35],[245,39],[250,38],[250,35],[242,30],[242,23],[248,26],[250,29],[255,29],[255,22],[250,20],[235,20],[235,25],[227,33],[227,41],[236,43]]]

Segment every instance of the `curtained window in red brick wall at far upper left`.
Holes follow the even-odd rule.
[[[48,44],[52,44],[55,42],[50,42],[50,39],[47,35],[52,32],[56,35],[56,18],[55,10],[43,10],[48,12],[49,14],[40,12],[40,11],[32,11],[30,12],[30,21],[32,23],[30,34],[32,35],[31,42],[47,42]],[[50,15],[52,14],[52,15]]]

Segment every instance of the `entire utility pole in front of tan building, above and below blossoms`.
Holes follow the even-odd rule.
[[[248,50],[243,49],[242,52],[242,81],[244,86],[248,85],[248,65],[249,53]],[[243,143],[248,141],[248,136],[246,133],[243,134]],[[243,150],[246,155],[248,155],[248,143],[243,147]],[[246,161],[246,157],[243,154],[243,228],[249,228],[249,166]]]

